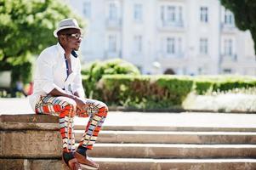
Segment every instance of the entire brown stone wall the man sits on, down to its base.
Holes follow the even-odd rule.
[[[59,129],[56,116],[1,115],[0,169],[66,169]]]

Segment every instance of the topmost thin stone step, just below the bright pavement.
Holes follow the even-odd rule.
[[[84,130],[86,127],[86,122],[84,125],[75,124],[76,130]],[[256,127],[178,127],[178,126],[110,126],[104,125],[103,130],[111,131],[185,131],[185,132],[256,132]]]

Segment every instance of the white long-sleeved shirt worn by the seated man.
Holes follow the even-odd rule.
[[[84,98],[82,87],[81,64],[78,57],[71,54],[72,73],[67,77],[65,50],[57,43],[46,48],[37,58],[37,68],[34,78],[34,91],[29,97],[33,110],[40,96],[45,96],[54,88],[64,89],[68,93],[77,92]]]

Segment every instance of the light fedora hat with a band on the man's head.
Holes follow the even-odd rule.
[[[75,28],[78,30],[82,30],[77,23],[76,19],[64,19],[60,20],[58,28],[54,31],[54,37],[58,37],[57,33],[60,30],[64,30],[67,28]]]

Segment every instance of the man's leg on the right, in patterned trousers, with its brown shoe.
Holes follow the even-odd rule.
[[[100,127],[105,121],[107,112],[108,108],[103,102],[94,99],[86,99],[86,105],[83,111],[77,113],[77,116],[90,117],[82,139],[79,142],[77,152],[74,155],[80,163],[90,167],[99,167],[94,161],[88,159],[86,151],[93,149],[93,145],[100,133]]]

